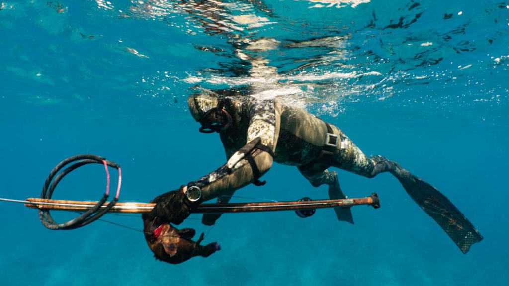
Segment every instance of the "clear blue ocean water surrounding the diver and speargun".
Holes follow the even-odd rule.
[[[225,214],[213,228],[193,214],[179,227],[222,250],[180,265],[154,260],[139,216],[104,217],[135,230],[50,231],[0,202],[3,286],[509,284],[509,2],[0,1],[0,32],[0,197],[37,197],[58,162],[90,153],[122,166],[121,201],[148,202],[224,163],[187,96],[249,87],[398,161],[484,236],[464,255],[392,176],[341,170],[350,197],[376,191],[381,208],[353,208],[355,225],[330,209]],[[295,167],[263,179],[232,201],[327,196]],[[80,168],[54,198],[99,199],[104,181]]]

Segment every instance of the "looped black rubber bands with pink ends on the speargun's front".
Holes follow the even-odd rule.
[[[66,165],[78,161],[66,169],[64,169],[61,173],[59,171],[64,168]],[[68,222],[64,223],[56,223],[51,215],[49,214],[49,210],[47,209],[40,209],[39,210],[39,219],[41,220],[42,224],[49,228],[50,230],[74,230],[75,228],[85,226],[89,223],[92,223],[96,220],[98,220],[100,217],[102,217],[104,214],[106,214],[119,200],[120,195],[120,186],[122,183],[122,171],[120,169],[120,165],[111,161],[106,160],[103,157],[97,156],[97,155],[90,155],[90,154],[84,154],[84,155],[76,155],[69,157],[62,162],[60,162],[58,165],[56,165],[51,172],[48,175],[48,178],[46,178],[46,181],[44,182],[44,186],[42,187],[41,192],[41,198],[47,198],[50,199],[51,195],[53,194],[53,191],[58,185],[58,183],[64,178],[67,174],[71,173],[71,171],[75,170],[78,167],[81,167],[83,165],[87,164],[103,164],[104,168],[106,169],[106,176],[107,176],[107,184],[106,184],[106,192],[104,193],[103,197],[100,199],[97,204],[89,209],[88,211],[84,212],[77,218],[74,218],[72,220],[69,220]],[[109,196],[109,171],[108,166],[116,168],[119,170],[119,183],[117,187],[117,194],[115,195],[115,198],[111,200],[107,204],[106,207],[102,208],[104,204],[106,203],[106,200]],[[59,173],[58,175],[56,175]],[[56,175],[56,177],[55,177]],[[54,179],[54,180],[53,180]],[[52,182],[51,182],[52,181]]]

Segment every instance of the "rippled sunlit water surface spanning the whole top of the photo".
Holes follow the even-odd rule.
[[[86,58],[71,54],[77,73],[52,75],[50,67],[30,61],[30,51],[18,43],[14,49],[26,65],[7,63],[2,70],[39,84],[93,81],[102,72],[98,69],[123,65],[104,55],[125,53],[138,60],[107,86],[127,93],[140,87],[144,92],[136,96],[157,105],[184,100],[186,95],[175,90],[196,84],[210,89],[249,85],[256,90],[252,96],[291,97],[298,106],[325,103],[336,111],[342,102],[394,97],[391,105],[442,111],[458,104],[465,110],[489,105],[498,112],[473,116],[506,116],[501,110],[508,101],[503,82],[509,9],[503,4],[97,0],[66,6],[53,1],[4,3],[0,23],[14,31],[12,21],[39,5],[32,22],[37,29],[69,39],[37,45],[53,59],[52,66],[68,69],[59,55],[75,45],[91,53]],[[91,17],[78,9],[89,9]],[[108,30],[101,22],[108,23]],[[150,68],[136,72],[141,67]],[[479,74],[490,76],[478,79]],[[466,86],[470,89],[461,91]],[[439,92],[443,89],[449,92]],[[60,102],[51,95],[43,99]],[[37,98],[27,95],[26,100]]]

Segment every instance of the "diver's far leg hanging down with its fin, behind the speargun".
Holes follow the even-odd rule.
[[[313,171],[304,168],[299,168],[299,171],[314,187],[318,187],[323,184],[329,185],[330,199],[341,199],[347,197],[341,189],[340,181],[337,180],[337,173],[335,171]],[[352,211],[350,208],[336,207],[334,208],[334,212],[336,213],[337,220],[353,224]]]

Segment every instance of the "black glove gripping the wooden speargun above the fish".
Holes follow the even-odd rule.
[[[181,186],[178,190],[156,196],[150,201],[156,203],[155,207],[150,213],[142,216],[143,220],[154,221],[156,219],[157,224],[181,224],[191,214],[191,211],[200,204],[199,202],[189,201],[183,188],[184,186]]]

